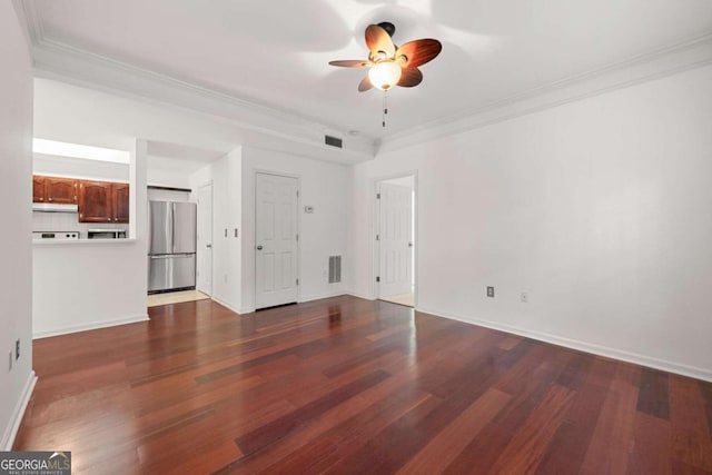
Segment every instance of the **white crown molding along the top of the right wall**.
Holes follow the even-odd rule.
[[[422,123],[376,141],[376,155],[490,126],[712,63],[712,33]]]

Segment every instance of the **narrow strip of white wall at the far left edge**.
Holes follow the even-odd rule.
[[[32,372],[32,73],[12,2],[0,2],[0,451],[9,451],[29,398]],[[9,369],[9,353],[21,342]]]

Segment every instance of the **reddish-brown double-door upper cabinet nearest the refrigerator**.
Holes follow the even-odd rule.
[[[129,184],[79,181],[79,222],[128,222]]]

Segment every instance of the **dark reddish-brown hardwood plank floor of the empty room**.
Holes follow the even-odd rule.
[[[353,297],[34,342],[75,473],[711,474],[712,384]]]

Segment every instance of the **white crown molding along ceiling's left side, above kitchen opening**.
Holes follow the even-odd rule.
[[[296,146],[294,151],[299,155],[340,164],[372,160],[375,156],[375,141],[370,137],[353,137],[334,125],[293,111],[50,40],[44,37],[34,1],[13,1],[20,3],[24,17],[21,22],[32,44],[36,77],[197,111],[235,126],[240,130],[240,138],[253,145],[266,147],[273,144],[280,150]],[[344,148],[326,146],[326,133],[343,138]]]

